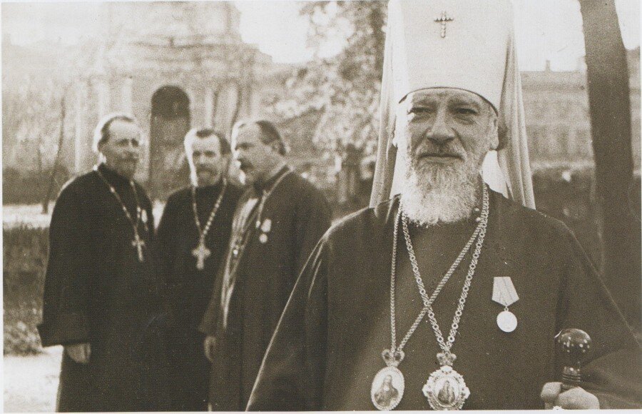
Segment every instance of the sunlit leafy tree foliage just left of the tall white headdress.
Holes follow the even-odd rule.
[[[316,59],[287,80],[287,95],[272,104],[280,118],[320,111],[312,139],[327,153],[347,144],[372,153],[377,142],[379,89],[384,49],[384,1],[305,1],[308,42]],[[340,53],[322,58],[328,46]]]

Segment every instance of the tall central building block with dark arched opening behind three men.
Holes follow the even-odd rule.
[[[103,4],[101,45],[74,86],[73,171],[93,162],[91,128],[106,113],[132,113],[144,136],[137,178],[165,198],[188,183],[183,137],[192,127],[229,133],[260,111],[274,66],[244,44],[239,11],[228,1]]]

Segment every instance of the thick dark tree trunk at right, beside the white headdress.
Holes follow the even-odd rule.
[[[633,212],[631,104],[626,49],[613,0],[581,0],[588,104],[602,224],[602,273],[629,323],[641,328],[640,223]]]

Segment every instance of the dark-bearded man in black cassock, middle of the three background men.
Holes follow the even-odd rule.
[[[230,239],[239,188],[228,181],[230,143],[212,129],[185,136],[193,185],[173,193],[156,232],[158,277],[167,310],[171,411],[206,411],[210,362],[198,324]]]

